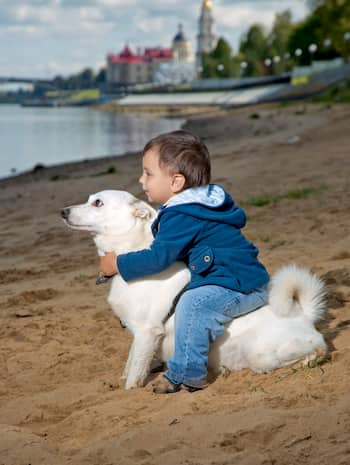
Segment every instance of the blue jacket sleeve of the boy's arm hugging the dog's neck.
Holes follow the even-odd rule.
[[[149,249],[118,255],[117,268],[125,281],[165,270],[179,259],[200,229],[199,220],[187,215],[164,213]]]

